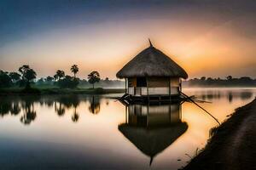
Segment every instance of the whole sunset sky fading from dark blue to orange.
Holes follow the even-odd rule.
[[[0,70],[115,74],[148,38],[194,77],[256,77],[254,0],[1,0]]]

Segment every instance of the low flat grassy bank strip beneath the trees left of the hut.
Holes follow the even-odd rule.
[[[0,89],[0,95],[29,95],[29,94],[122,94],[123,88],[5,88]]]

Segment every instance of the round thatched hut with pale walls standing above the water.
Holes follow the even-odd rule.
[[[183,68],[159,49],[145,48],[117,74],[125,78],[126,94],[137,97],[171,96],[181,91],[181,78],[188,78]]]

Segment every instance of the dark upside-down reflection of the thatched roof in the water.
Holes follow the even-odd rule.
[[[150,164],[154,156],[165,150],[178,137],[186,132],[186,122],[177,123],[174,126],[147,129],[147,127],[132,127],[128,124],[120,124],[119,131],[134,144],[137,149],[150,157]]]

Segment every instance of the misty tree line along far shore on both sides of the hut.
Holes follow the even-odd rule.
[[[31,88],[31,84],[50,85],[59,88],[124,88],[125,82],[119,80],[109,80],[108,77],[102,80],[98,71],[92,71],[87,79],[76,77],[79,72],[78,65],[72,65],[70,71],[73,76],[69,76],[65,71],[57,70],[53,77],[42,77],[36,80],[37,73],[29,65],[22,65],[17,72],[7,72],[0,70],[0,88],[24,87]],[[183,81],[183,87],[256,87],[256,79],[251,77],[232,77],[224,79],[201,77]]]

